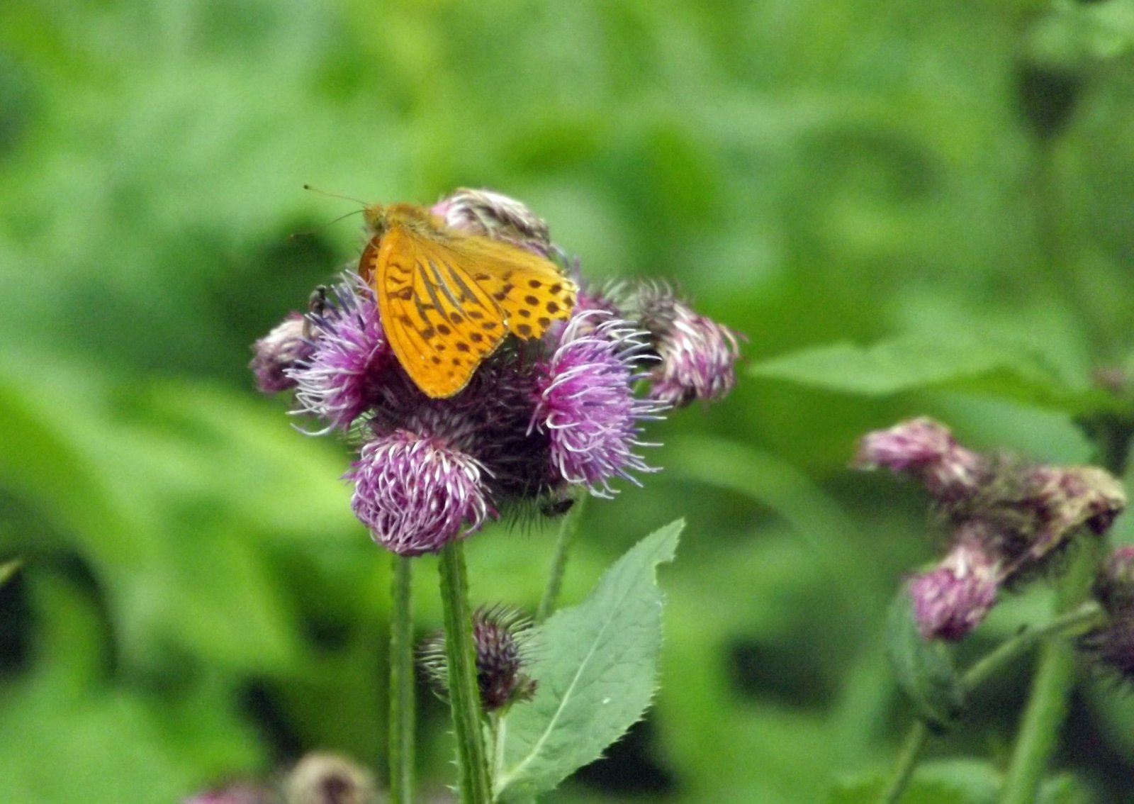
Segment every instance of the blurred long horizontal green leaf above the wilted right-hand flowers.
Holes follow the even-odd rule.
[[[1025,342],[956,332],[948,339],[905,335],[866,347],[843,341],[759,363],[751,372],[865,397],[932,388],[1075,414],[1118,409],[1122,405],[1102,391],[1072,387]]]

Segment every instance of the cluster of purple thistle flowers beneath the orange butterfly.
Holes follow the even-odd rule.
[[[547,225],[515,200],[462,189],[432,212],[566,264]],[[651,446],[640,439],[645,420],[728,393],[737,337],[665,285],[598,290],[577,261],[572,270],[581,290],[570,320],[539,341],[509,338],[448,399],[401,369],[354,272],[256,341],[256,384],[293,390],[298,413],[357,446],[345,475],[352,508],[399,555],[435,552],[521,506],[553,513],[581,491],[609,497],[611,481],[654,471],[637,451]]]

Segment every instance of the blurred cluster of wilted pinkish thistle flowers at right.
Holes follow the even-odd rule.
[[[940,564],[908,582],[928,640],[965,636],[1001,589],[1038,577],[1074,539],[1101,536],[1126,507],[1122,484],[1099,467],[1027,465],[975,452],[930,418],[866,434],[855,463],[921,482],[950,534]],[[1134,576],[1131,564],[1125,572]],[[1124,598],[1134,624],[1134,590],[1114,596]],[[1127,661],[1134,669],[1134,657]]]

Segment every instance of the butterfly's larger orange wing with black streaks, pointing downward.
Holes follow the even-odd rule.
[[[387,340],[414,383],[434,398],[463,389],[506,335],[505,310],[469,255],[389,221],[363,251]]]

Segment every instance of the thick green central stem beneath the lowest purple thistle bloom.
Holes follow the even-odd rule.
[[[492,785],[481,730],[481,694],[476,687],[473,617],[468,606],[468,577],[465,573],[463,542],[451,541],[441,551],[440,574],[449,708],[457,738],[460,802],[490,804]]]

